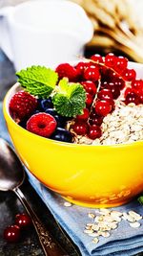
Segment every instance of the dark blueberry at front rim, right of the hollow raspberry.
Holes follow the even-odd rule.
[[[65,128],[56,128],[51,135],[51,139],[72,143],[72,133]]]

